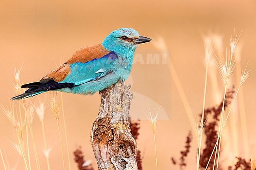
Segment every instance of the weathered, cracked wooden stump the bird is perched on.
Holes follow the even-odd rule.
[[[137,145],[129,122],[130,88],[117,82],[102,91],[100,110],[91,132],[99,170],[138,170]]]

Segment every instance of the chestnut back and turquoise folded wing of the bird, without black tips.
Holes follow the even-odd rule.
[[[117,58],[113,51],[108,51],[101,45],[82,48],[59,68],[51,71],[41,83],[54,80],[58,83],[72,83],[74,86],[100,79],[111,71]]]

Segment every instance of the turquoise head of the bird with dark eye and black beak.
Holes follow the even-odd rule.
[[[102,42],[109,51],[128,52],[135,51],[139,44],[151,41],[150,38],[142,37],[132,28],[120,28],[112,31]]]

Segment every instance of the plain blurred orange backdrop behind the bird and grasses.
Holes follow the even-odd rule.
[[[152,38],[152,42],[142,44],[137,54],[157,53],[153,45],[154,39],[161,35],[167,44],[173,65],[184,88],[192,112],[202,112],[204,93],[204,42],[206,33],[213,32],[223,37],[224,50],[229,48],[231,35],[241,34],[241,66],[252,69],[250,78],[243,86],[249,147],[252,157],[256,157],[256,1],[255,0],[129,0],[129,1],[7,1],[0,2],[0,58],[1,58],[1,90],[0,103],[9,106],[9,98],[13,97],[13,89],[9,82],[14,81],[14,63],[17,69],[22,64],[21,82],[28,83],[41,79],[59,65],[61,58],[67,60],[72,53],[82,48],[98,44],[111,31],[120,27],[132,27],[140,35]],[[150,52],[148,52],[150,51]],[[160,57],[161,59],[161,57]],[[161,61],[161,60],[160,60]],[[221,94],[224,91],[219,77]],[[236,85],[236,75],[232,75],[232,83]],[[131,77],[126,84],[132,83],[134,101],[131,115],[133,119],[141,115],[141,129],[137,141],[138,149],[143,154],[143,168],[155,169],[154,139],[150,124],[143,118],[146,97],[152,101],[152,110],[161,104],[160,120],[156,130],[156,147],[158,152],[158,168],[160,170],[179,169],[171,164],[171,157],[179,158],[184,149],[186,135],[192,130],[189,117],[185,112],[180,96],[173,84],[167,64],[141,64],[136,62]],[[213,100],[211,83],[208,82],[206,107],[217,104]],[[50,99],[50,94],[42,94],[31,99],[37,103]],[[14,101],[17,103],[17,101]],[[76,170],[72,152],[82,146],[85,159],[92,159],[97,167],[90,143],[90,131],[97,116],[100,95],[72,95],[63,93],[64,111],[67,123],[71,166]],[[221,102],[221,101],[220,101]],[[64,143],[63,120],[60,116],[61,135]],[[232,128],[231,128],[232,129]],[[41,123],[35,115],[33,132],[39,153],[41,168],[46,169],[43,155],[43,138]],[[45,114],[46,141],[53,146],[50,152],[50,165],[53,170],[62,168],[61,150],[59,146],[56,120],[49,107]],[[239,131],[237,148],[239,155],[245,156],[242,144],[242,132]],[[193,133],[194,134],[194,133]],[[11,123],[4,114],[0,114],[0,148],[4,159],[11,168],[24,168],[22,158],[10,146],[15,141]],[[225,143],[228,145],[228,143]],[[223,146],[225,145],[223,144]],[[31,146],[31,150],[32,150]],[[63,146],[67,169],[67,150]],[[187,159],[189,168],[196,167],[197,141],[193,137],[191,152]],[[231,152],[231,151],[230,151]],[[33,154],[32,154],[33,155]],[[225,157],[223,158],[225,159]],[[32,157],[32,169],[35,159]],[[187,169],[189,169],[187,168]],[[3,169],[0,161],[0,169]]]

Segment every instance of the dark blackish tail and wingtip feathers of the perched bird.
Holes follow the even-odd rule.
[[[20,100],[20,99],[26,99],[29,97],[33,97],[35,95],[39,95],[41,93],[44,93],[46,91],[50,91],[50,90],[58,90],[61,88],[69,88],[74,86],[74,84],[72,83],[58,83],[54,80],[49,80],[46,83],[42,83],[42,82],[32,82],[29,84],[24,84],[21,86],[21,88],[29,88],[28,90],[26,90],[23,94],[17,95],[13,98],[11,98],[11,100]]]

